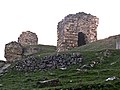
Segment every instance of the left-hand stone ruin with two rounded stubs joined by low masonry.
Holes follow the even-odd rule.
[[[5,45],[4,57],[8,62],[21,60],[24,56],[32,55],[40,51],[35,45],[38,44],[37,35],[33,32],[22,32],[18,42],[12,41]]]

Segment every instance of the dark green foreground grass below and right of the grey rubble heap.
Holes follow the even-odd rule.
[[[0,76],[0,90],[119,90],[120,50],[105,49],[66,53],[81,53],[84,58],[82,64],[69,66],[66,70],[35,72],[12,70]],[[94,62],[96,64],[90,67]],[[110,77],[116,77],[116,79],[106,81]],[[37,85],[38,81],[45,80],[45,78],[59,79],[60,85],[55,87]]]

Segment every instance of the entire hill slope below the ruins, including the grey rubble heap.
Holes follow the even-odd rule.
[[[61,53],[55,46],[38,45],[40,52],[12,63],[0,74],[0,90],[119,90],[120,50],[115,49],[119,38]]]

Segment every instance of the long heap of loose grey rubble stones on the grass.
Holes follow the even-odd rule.
[[[36,71],[36,70],[48,70],[48,69],[61,69],[66,68],[70,65],[81,65],[83,58],[81,54],[55,54],[52,56],[39,57],[28,57],[21,61],[17,61],[12,70],[17,71]]]

